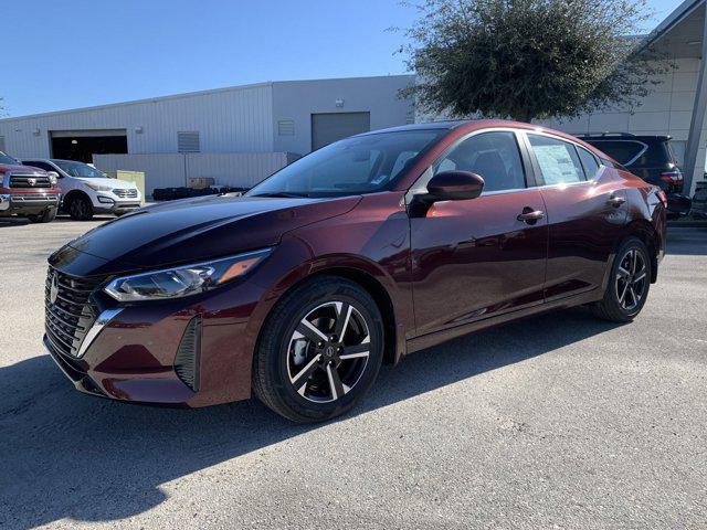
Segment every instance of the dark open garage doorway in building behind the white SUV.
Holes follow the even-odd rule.
[[[93,162],[94,155],[125,155],[128,139],[125,129],[52,130],[52,157]]]

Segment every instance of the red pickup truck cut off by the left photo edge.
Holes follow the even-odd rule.
[[[18,215],[49,223],[56,218],[61,199],[56,174],[21,166],[0,151],[0,218]]]

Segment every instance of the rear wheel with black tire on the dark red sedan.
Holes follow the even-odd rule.
[[[632,271],[630,266],[632,263],[631,253],[636,253],[639,256],[636,271]],[[629,275],[625,275],[624,272],[627,272]],[[625,240],[619,247],[611,266],[604,297],[601,301],[592,304],[592,312],[597,317],[612,322],[632,321],[641,312],[648,297],[651,273],[651,256],[645,244],[636,237]],[[640,278],[641,276],[643,277]]]

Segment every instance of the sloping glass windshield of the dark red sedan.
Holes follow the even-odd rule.
[[[277,171],[247,197],[340,197],[390,189],[444,129],[347,138]]]

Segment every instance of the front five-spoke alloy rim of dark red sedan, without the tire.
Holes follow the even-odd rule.
[[[348,394],[360,381],[370,356],[370,331],[352,305],[333,300],[312,309],[287,347],[287,374],[294,390],[315,403]]]

